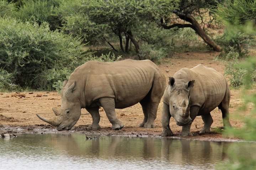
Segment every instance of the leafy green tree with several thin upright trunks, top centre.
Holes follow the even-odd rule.
[[[129,51],[129,42],[135,46],[139,53],[139,42],[136,40],[133,29],[139,24],[138,12],[143,1],[137,0],[88,0],[85,4],[89,19],[105,28],[108,27],[118,36],[120,49]],[[123,46],[123,35],[125,37],[125,48]]]

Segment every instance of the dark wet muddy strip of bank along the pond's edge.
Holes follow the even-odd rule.
[[[124,130],[111,130],[111,128],[101,129],[101,130],[87,130],[87,126],[75,126],[70,131],[57,131],[55,127],[51,125],[21,125],[21,126],[11,126],[2,125],[0,126],[0,134],[2,133],[12,133],[12,134],[44,134],[44,133],[60,133],[60,134],[70,134],[70,133],[83,133],[85,135],[99,135],[99,136],[129,136],[129,137],[161,137],[161,132],[146,132],[146,131],[126,131]],[[19,136],[19,135],[17,135]],[[164,138],[175,138],[175,139],[187,139],[187,140],[200,140],[200,141],[225,141],[225,142],[237,142],[242,141],[239,138],[225,137],[222,134],[216,132],[210,132],[209,134],[199,135],[199,131],[194,132],[193,136],[179,136],[179,133],[174,134],[171,137]]]

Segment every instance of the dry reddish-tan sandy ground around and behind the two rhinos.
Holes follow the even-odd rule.
[[[158,66],[164,73],[166,78],[172,76],[175,72],[183,67],[192,68],[197,64],[204,64],[205,66],[215,68],[218,72],[224,73],[224,63],[215,61],[215,56],[218,55],[216,52],[187,52],[187,53],[176,53],[173,58],[163,60]],[[167,79],[166,79],[167,80]],[[1,93],[0,95],[0,132],[8,131],[12,129],[19,129],[21,131],[35,131],[38,129],[54,129],[52,126],[47,125],[45,122],[37,118],[36,113],[42,117],[51,118],[54,113],[52,107],[60,107],[61,97],[57,92],[46,92],[46,91],[33,91],[33,92],[22,92],[26,97],[22,97],[17,93]],[[29,94],[33,93],[33,94]],[[242,122],[240,119],[236,119],[235,111],[241,106],[240,90],[231,90],[231,102],[230,102],[230,122],[234,127],[241,127]],[[41,97],[36,97],[42,95]],[[9,97],[8,97],[9,96]],[[108,121],[104,110],[100,109],[100,131],[86,131],[86,127],[92,123],[90,114],[85,109],[82,109],[82,114],[77,124],[74,126],[74,131],[86,131],[87,133],[101,133],[104,135],[160,135],[161,128],[161,111],[162,102],[158,107],[157,118],[155,120],[156,128],[145,129],[138,128],[138,125],[142,122],[143,112],[140,104],[136,104],[132,107],[125,109],[116,109],[117,117],[122,121],[125,127],[119,131],[111,130],[111,124]],[[245,113],[239,113],[244,116]],[[211,127],[222,126],[221,112],[216,108],[211,112],[213,117],[213,124]],[[174,119],[171,118],[170,127],[175,134],[178,136],[181,131],[181,126],[177,126]],[[203,128],[203,120],[201,117],[197,117],[192,126],[191,131],[195,134]],[[54,130],[53,130],[54,131]],[[55,132],[55,131],[54,131]],[[206,135],[195,135],[189,138],[196,139],[223,139],[221,134],[211,133]]]

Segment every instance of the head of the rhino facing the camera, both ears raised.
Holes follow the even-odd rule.
[[[184,82],[169,77],[169,107],[171,116],[176,124],[185,126],[191,123],[190,118],[190,89],[194,86],[195,80]]]

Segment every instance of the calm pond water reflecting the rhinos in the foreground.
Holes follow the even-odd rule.
[[[236,142],[241,156],[256,157],[256,144]],[[98,137],[84,134],[23,134],[0,138],[0,167],[6,170],[214,169],[230,158],[231,142],[166,138]],[[236,146],[236,148],[237,148]]]

